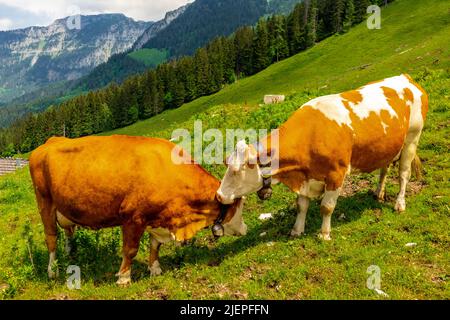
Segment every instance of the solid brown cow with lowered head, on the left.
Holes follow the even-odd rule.
[[[220,181],[196,164],[174,164],[174,147],[142,137],[51,138],[32,153],[30,170],[50,252],[50,278],[56,275],[57,224],[68,238],[76,225],[94,230],[121,226],[120,285],[131,282],[131,263],[146,230],[152,235],[152,275],[161,273],[162,243],[189,240],[210,225],[216,236],[246,234],[243,201],[218,202]]]

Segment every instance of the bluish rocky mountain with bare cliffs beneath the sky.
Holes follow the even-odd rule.
[[[0,32],[0,102],[88,74],[128,50],[152,24],[123,14],[81,16],[80,29],[68,21]]]

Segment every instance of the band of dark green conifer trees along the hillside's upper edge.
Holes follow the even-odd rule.
[[[371,3],[385,0],[305,0],[287,16],[261,18],[256,26],[218,37],[182,57],[29,114],[0,131],[0,154],[31,151],[51,136],[70,138],[121,128],[221,90],[237,79],[312,47],[362,22]]]

